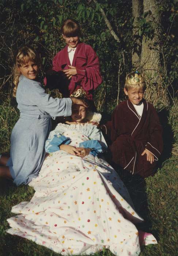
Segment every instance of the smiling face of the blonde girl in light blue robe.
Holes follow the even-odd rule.
[[[19,72],[28,79],[34,80],[38,77],[39,67],[33,61],[28,61],[18,68]]]

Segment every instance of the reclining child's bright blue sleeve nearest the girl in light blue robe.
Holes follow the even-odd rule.
[[[45,148],[47,153],[52,153],[57,150],[60,150],[59,146],[61,144],[69,144],[71,142],[70,138],[63,136],[57,137],[57,135],[54,135],[51,142],[48,144],[48,146]]]

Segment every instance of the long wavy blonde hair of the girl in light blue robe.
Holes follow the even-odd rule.
[[[16,97],[16,91],[19,83],[19,77],[21,72],[19,71],[19,67],[25,65],[29,61],[33,61],[37,65],[40,65],[40,59],[38,54],[31,46],[23,46],[18,50],[18,54],[15,59],[14,71],[13,71],[13,82],[14,82],[14,89],[13,89],[13,96]]]

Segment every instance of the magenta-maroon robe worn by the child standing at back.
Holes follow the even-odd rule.
[[[53,70],[60,71],[68,69],[71,65],[68,56],[68,45],[56,54],[53,59]],[[102,83],[99,70],[99,58],[90,45],[79,43],[75,50],[72,66],[76,67],[77,75],[72,76],[68,89],[69,97],[76,89],[83,87],[89,100],[93,99],[94,90]]]

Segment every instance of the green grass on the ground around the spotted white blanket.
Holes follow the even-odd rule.
[[[0,152],[9,151],[10,134],[18,119],[18,112],[10,106],[9,100],[0,106]],[[174,131],[178,125],[173,119]],[[3,122],[2,122],[3,120]],[[175,136],[174,136],[175,138]],[[177,140],[173,141],[177,143]],[[172,142],[171,142],[172,143]],[[165,145],[167,147],[167,145]],[[140,229],[151,232],[156,237],[157,245],[141,248],[140,256],[177,256],[178,255],[178,157],[164,157],[154,177],[145,180],[132,178],[125,180],[137,212],[145,219]],[[0,255],[57,255],[32,241],[6,233],[9,228],[7,218],[14,216],[11,208],[22,201],[29,201],[34,194],[29,186],[16,187],[11,181],[0,179]],[[96,255],[109,256],[108,250]]]

